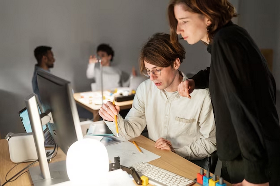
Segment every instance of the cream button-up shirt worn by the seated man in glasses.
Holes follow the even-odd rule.
[[[182,73],[183,81],[187,77]],[[115,122],[105,121],[116,135]],[[119,135],[124,140],[138,137],[147,126],[153,141],[171,141],[177,154],[186,159],[203,159],[216,150],[215,121],[208,89],[194,90],[191,99],[174,93],[166,96],[151,80],[139,85],[132,108],[118,115]]]

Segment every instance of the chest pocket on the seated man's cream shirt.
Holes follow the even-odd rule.
[[[186,119],[175,117],[176,128],[181,130],[181,134],[195,134],[199,133],[199,125],[196,118]]]

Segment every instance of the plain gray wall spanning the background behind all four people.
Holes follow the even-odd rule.
[[[91,80],[86,79],[85,71],[88,57],[95,53],[96,46],[109,43],[115,50],[114,63],[119,68],[127,72],[132,66],[137,69],[139,51],[147,38],[155,32],[169,32],[168,2],[0,0],[1,137],[8,132],[23,132],[17,112],[25,107],[24,98],[32,92],[36,46],[52,46],[56,58],[52,73],[70,80],[76,92],[87,91]],[[231,2],[238,4],[238,0]],[[279,51],[280,36],[274,25],[279,19],[274,17],[275,7],[272,2],[240,0],[237,8],[239,24],[249,31],[258,46]],[[274,38],[277,34],[278,42]],[[184,41],[182,44],[187,54],[181,71],[196,73],[210,65],[206,46],[200,42],[194,46]],[[275,58],[279,61],[280,56]],[[275,77],[277,68],[280,66],[274,63]],[[277,82],[280,84],[280,76]]]

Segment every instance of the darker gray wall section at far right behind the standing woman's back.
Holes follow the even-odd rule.
[[[277,0],[240,0],[239,25],[244,27],[259,48],[273,49],[273,69],[277,89],[280,89],[280,3]]]

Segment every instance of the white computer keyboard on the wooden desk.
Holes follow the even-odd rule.
[[[193,180],[161,169],[150,163],[143,162],[132,167],[140,176],[147,176],[149,178],[149,184],[155,186],[189,186],[194,184]]]

